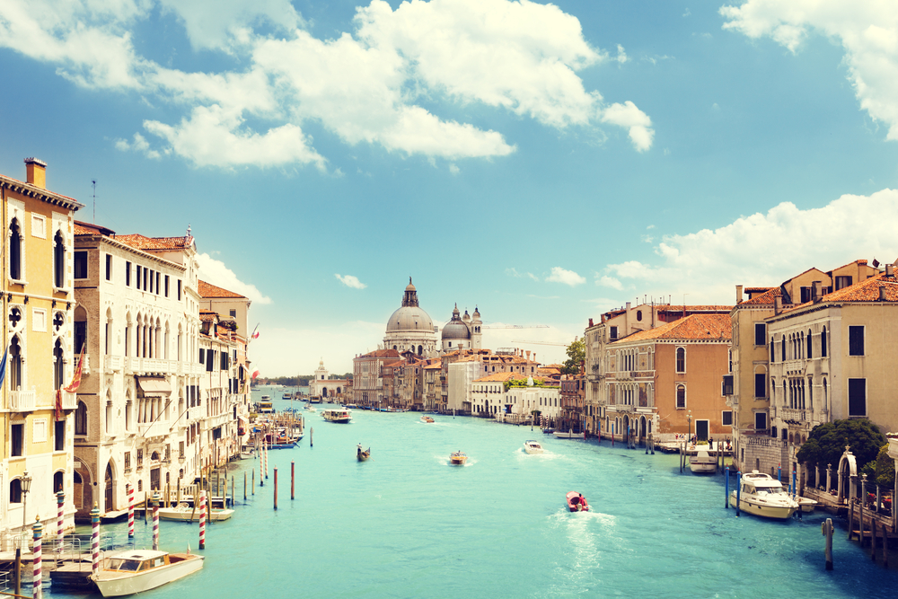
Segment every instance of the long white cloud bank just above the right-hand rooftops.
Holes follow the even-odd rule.
[[[627,293],[687,293],[696,303],[729,304],[735,285],[779,285],[811,267],[830,270],[862,258],[891,262],[898,257],[895,222],[894,189],[845,195],[808,210],[783,202],[715,230],[665,235],[656,260],[609,264],[597,282]]]

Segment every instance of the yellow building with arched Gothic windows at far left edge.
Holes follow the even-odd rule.
[[[3,531],[39,516],[56,533],[58,490],[65,492],[66,526],[73,524],[72,382],[75,296],[79,265],[73,217],[84,207],[47,189],[46,163],[25,160],[26,179],[0,175],[6,225],[3,247],[4,347],[0,518]],[[52,524],[50,524],[52,523]]]

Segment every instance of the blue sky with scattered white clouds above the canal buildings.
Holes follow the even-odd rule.
[[[898,258],[894,0],[4,0],[0,71],[0,172],[190,226],[263,376],[351,371],[409,277],[550,363],[626,302]]]

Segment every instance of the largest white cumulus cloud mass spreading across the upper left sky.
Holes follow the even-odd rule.
[[[133,31],[160,12],[174,15],[193,48],[236,66],[205,73],[142,56]],[[214,10],[175,0],[0,4],[0,47],[55,65],[85,88],[139,92],[182,110],[180,122],[146,119],[143,133],[154,142],[119,139],[123,151],[176,155],[199,167],[293,163],[326,171],[326,157],[304,132],[313,122],[348,145],[453,163],[514,153],[502,132],[464,122],[467,107],[478,104],[560,130],[621,127],[639,152],[652,145],[644,112],[632,101],[606,103],[577,75],[626,63],[624,49],[612,57],[594,48],[577,18],[554,4],[431,0],[393,10],[373,0],[357,9],[354,31],[323,40],[305,26],[288,0],[222,0]],[[441,116],[445,104],[461,120]]]

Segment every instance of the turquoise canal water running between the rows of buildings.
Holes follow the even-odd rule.
[[[308,415],[302,445],[270,453],[279,509],[269,472],[230,521],[207,528],[206,567],[147,596],[894,595],[894,570],[871,563],[843,529],[833,540],[835,569],[824,570],[823,515],[736,518],[724,509],[723,477],[681,474],[675,455],[475,418],[435,415],[424,424],[415,413],[363,410],[354,418],[338,425]],[[524,454],[528,438],[546,454]],[[356,461],[359,442],[371,446],[370,461]],[[459,449],[468,464],[450,466]],[[232,471],[238,498],[253,465],[258,485],[258,462]],[[568,513],[568,490],[594,511]],[[164,550],[189,542],[197,551],[196,524],[161,528]]]

